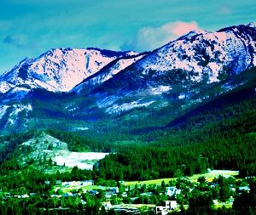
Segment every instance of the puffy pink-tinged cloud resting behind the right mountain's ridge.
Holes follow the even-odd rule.
[[[136,37],[129,42],[125,42],[121,49],[131,49],[139,52],[153,50],[194,30],[200,30],[195,21],[176,21],[159,27],[143,27],[137,31]]]

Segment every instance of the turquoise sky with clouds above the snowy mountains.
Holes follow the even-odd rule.
[[[255,0],[0,0],[0,74],[50,48],[149,51],[255,11]]]

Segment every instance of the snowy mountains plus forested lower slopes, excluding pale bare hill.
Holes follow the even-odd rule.
[[[98,178],[255,175],[255,66],[255,23],[191,31],[142,54],[55,48],[24,59],[0,76],[1,161],[22,144],[10,133],[27,140],[34,129],[68,150],[117,152]]]

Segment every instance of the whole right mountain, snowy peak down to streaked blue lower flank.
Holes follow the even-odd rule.
[[[109,114],[181,100],[200,103],[215,86],[256,65],[256,29],[238,25],[217,32],[189,32],[138,60],[96,88],[98,107]],[[218,88],[218,92],[217,92]],[[165,99],[169,98],[169,99]],[[159,100],[162,99],[162,102]],[[152,106],[153,105],[153,106]],[[155,108],[155,107],[154,107]]]

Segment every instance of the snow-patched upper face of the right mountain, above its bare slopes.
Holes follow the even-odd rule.
[[[195,82],[204,76],[208,76],[208,82],[218,82],[220,71],[238,74],[253,65],[256,65],[256,29],[249,24],[217,32],[190,32],[149,54],[136,67],[143,72],[193,71]]]

